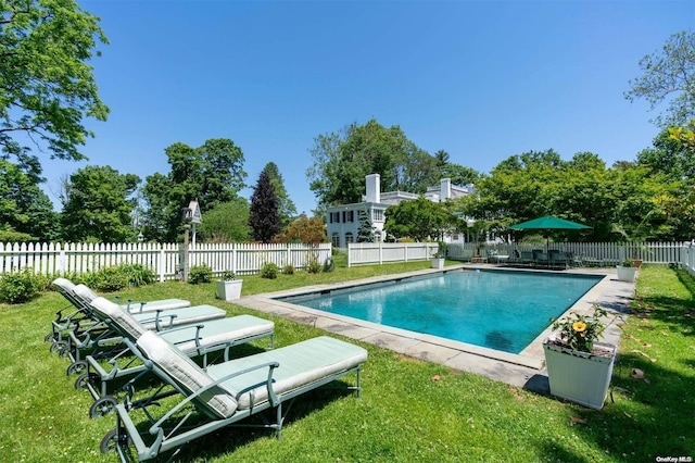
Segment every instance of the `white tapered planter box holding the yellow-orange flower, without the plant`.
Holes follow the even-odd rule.
[[[543,342],[543,350],[551,393],[590,409],[603,409],[612,376],[616,346],[594,342],[595,347],[611,352],[610,356],[603,356],[547,342],[548,339]]]

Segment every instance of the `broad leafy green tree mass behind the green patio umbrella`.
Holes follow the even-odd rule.
[[[686,201],[679,198],[685,180],[640,163],[606,168],[596,154],[577,153],[563,161],[553,150],[514,155],[482,178],[472,196],[454,201],[459,216],[485,224],[493,235],[541,215],[556,215],[590,225],[585,232],[558,230],[554,240],[618,241],[683,239],[692,226]],[[623,233],[617,233],[621,230]],[[523,237],[515,233],[515,238]]]

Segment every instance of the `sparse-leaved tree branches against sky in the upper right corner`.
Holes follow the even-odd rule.
[[[665,114],[653,122],[659,127],[685,125],[695,117],[695,33],[683,30],[668,38],[660,52],[640,60],[643,75],[630,80],[629,101],[644,99],[655,110],[668,101]]]

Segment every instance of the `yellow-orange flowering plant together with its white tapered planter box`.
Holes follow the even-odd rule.
[[[543,341],[545,366],[553,396],[601,410],[606,400],[617,347],[597,342],[606,311],[594,304],[592,316],[572,313],[555,322]]]

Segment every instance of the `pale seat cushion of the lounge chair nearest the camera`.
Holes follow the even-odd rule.
[[[273,373],[273,389],[280,396],[355,367],[366,360],[365,349],[321,336],[280,349],[210,365],[207,374],[218,379],[265,362],[278,362],[280,366]],[[238,391],[236,399],[239,410],[245,410],[268,400],[267,375],[266,368],[255,370],[226,380],[223,385],[227,390]]]

